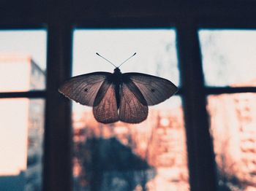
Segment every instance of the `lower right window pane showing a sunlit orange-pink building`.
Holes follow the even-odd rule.
[[[256,93],[208,96],[219,185],[256,190]]]

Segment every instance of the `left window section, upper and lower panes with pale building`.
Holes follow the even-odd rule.
[[[0,190],[41,190],[45,30],[0,31]],[[34,91],[34,92],[33,92]]]

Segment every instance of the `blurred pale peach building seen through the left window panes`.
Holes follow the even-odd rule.
[[[0,54],[1,92],[44,87],[45,72],[29,55]],[[44,101],[2,98],[0,114],[0,190],[41,190]]]

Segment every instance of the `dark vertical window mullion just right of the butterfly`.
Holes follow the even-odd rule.
[[[188,17],[187,17],[188,18]],[[206,112],[197,28],[186,19],[177,27],[191,190],[217,190],[216,168]]]

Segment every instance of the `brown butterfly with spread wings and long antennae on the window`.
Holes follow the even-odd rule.
[[[143,122],[148,117],[148,106],[165,101],[178,90],[161,77],[135,72],[122,74],[121,65],[113,64],[116,67],[113,74],[97,71],[72,77],[59,87],[59,92],[82,105],[92,106],[94,118],[107,124],[119,120]]]

